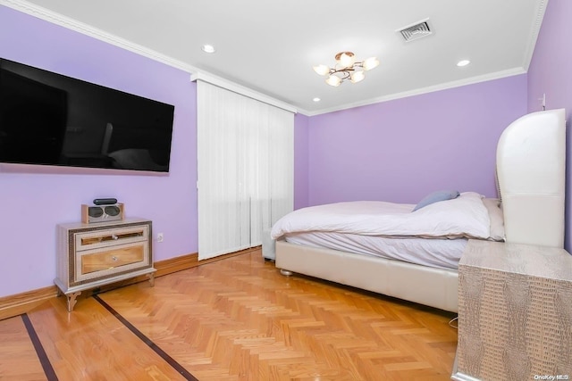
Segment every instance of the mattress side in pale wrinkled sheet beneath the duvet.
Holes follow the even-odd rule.
[[[290,244],[359,253],[437,269],[457,269],[468,241],[467,238],[361,236],[331,232],[295,233],[286,235],[285,239]]]

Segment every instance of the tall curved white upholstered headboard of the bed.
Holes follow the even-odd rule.
[[[564,246],[564,109],[512,122],[497,145],[497,176],[506,241]]]

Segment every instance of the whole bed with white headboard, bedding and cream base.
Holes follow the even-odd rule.
[[[563,247],[565,125],[559,109],[527,114],[503,131],[496,157],[499,199],[448,191],[428,195],[415,211],[416,204],[383,202],[303,208],[273,225],[272,248],[263,244],[263,253],[272,251],[286,276],[319,277],[457,312],[456,263],[468,239]],[[357,213],[349,212],[353,207]],[[351,230],[356,225],[357,233]]]

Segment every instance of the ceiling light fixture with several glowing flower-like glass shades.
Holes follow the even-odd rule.
[[[314,71],[321,76],[327,76],[325,83],[338,87],[341,82],[349,79],[352,83],[357,83],[366,78],[365,71],[372,70],[379,61],[375,57],[370,57],[366,61],[356,62],[355,54],[351,52],[341,52],[335,55],[336,64],[333,68],[326,65],[314,66]]]

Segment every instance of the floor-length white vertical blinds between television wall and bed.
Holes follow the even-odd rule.
[[[293,210],[294,114],[202,80],[198,88],[198,259],[262,243]]]

